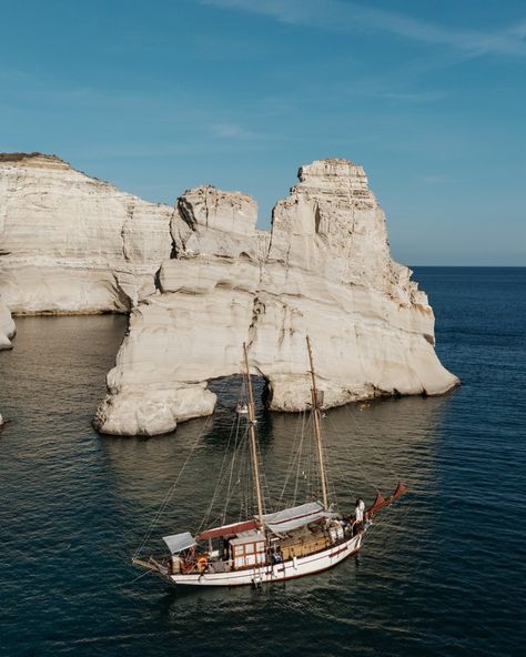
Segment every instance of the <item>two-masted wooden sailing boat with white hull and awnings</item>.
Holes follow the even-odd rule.
[[[254,398],[246,344],[243,345],[247,403],[237,404],[246,417],[252,478],[257,514],[242,522],[164,536],[169,558],[134,557],[132,563],[175,585],[240,586],[284,582],[336,566],[362,547],[373,516],[406,492],[398,484],[392,497],[380,494],[363,517],[338,513],[328,499],[325,453],[321,435],[323,391],[316,387],[311,342],[306,337],[311,373],[311,413],[321,482],[321,499],[264,513]]]

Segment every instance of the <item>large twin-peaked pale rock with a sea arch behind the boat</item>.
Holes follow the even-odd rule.
[[[271,233],[255,229],[244,194],[199,188],[178,200],[173,257],[132,310],[100,431],[151,435],[212,413],[206,381],[243,371],[243,342],[281,411],[310,404],[306,335],[326,406],[458,383],[436,357],[425,293],[391,260],[363,169],[322,160],[299,179]]]

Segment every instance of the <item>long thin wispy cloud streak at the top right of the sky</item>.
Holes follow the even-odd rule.
[[[492,33],[439,26],[398,12],[342,0],[201,0],[203,4],[236,9],[295,26],[345,32],[387,32],[427,44],[447,46],[469,57],[526,55],[526,21]]]

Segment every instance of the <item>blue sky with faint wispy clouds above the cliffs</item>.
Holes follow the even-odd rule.
[[[408,265],[526,265],[524,0],[0,0],[0,151],[267,229],[301,164],[362,164]]]

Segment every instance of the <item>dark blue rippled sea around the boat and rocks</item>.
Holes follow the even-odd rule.
[[[341,507],[398,479],[411,493],[378,515],[358,558],[262,590],[181,590],[130,565],[190,452],[149,546],[206,511],[234,383],[216,383],[212,420],[100,436],[90,421],[127,319],[19,319],[0,354],[0,654],[526,655],[526,269],[414,277],[463,385],[324,420]],[[272,489],[297,417],[260,406],[259,427]]]

